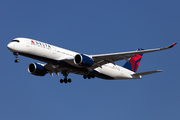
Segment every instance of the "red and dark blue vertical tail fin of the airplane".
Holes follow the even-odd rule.
[[[141,50],[143,50],[143,49],[138,48],[137,51],[141,51]],[[135,55],[135,57],[130,58],[129,61],[124,64],[123,67],[136,73],[136,71],[139,67],[139,64],[141,62],[141,58],[142,58],[143,54],[134,54],[134,55]]]

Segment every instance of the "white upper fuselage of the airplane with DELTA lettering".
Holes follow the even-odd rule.
[[[44,59],[59,61],[67,58],[74,58],[75,55],[79,54],[77,52],[66,50],[37,40],[32,40],[28,38],[16,38],[16,39],[19,42],[10,42],[7,46],[11,52],[17,52],[20,55],[24,55],[33,59],[38,59],[43,62],[47,62]],[[75,66],[78,69],[80,68],[75,63],[71,62],[68,64]],[[94,70],[103,75],[109,76],[112,79],[141,78],[141,76],[138,77],[132,76],[132,74],[134,74],[133,71],[130,71],[124,67],[112,63],[102,65],[100,67],[95,68]]]

